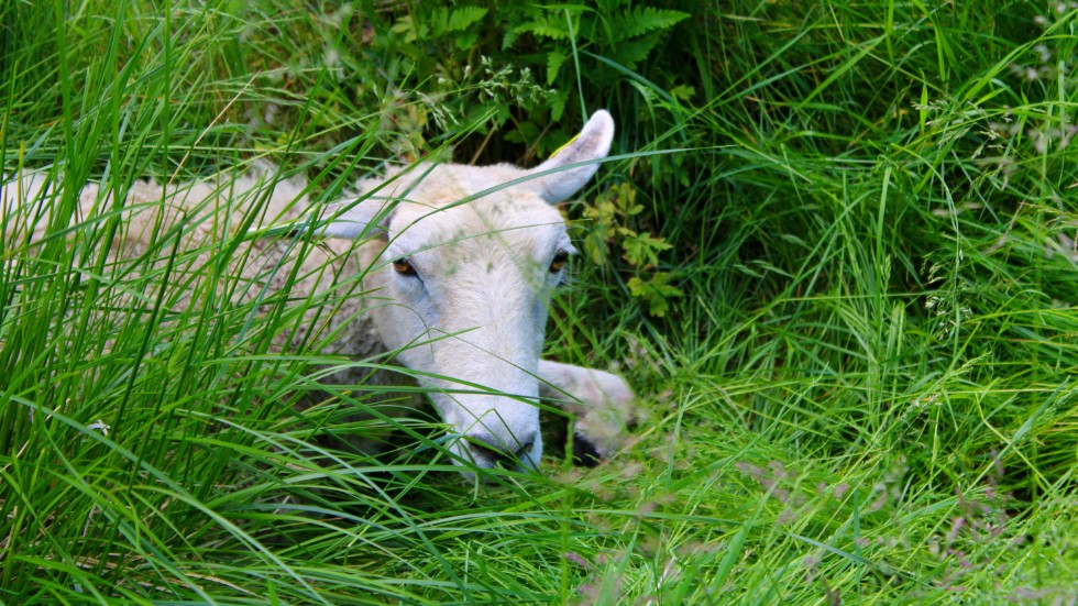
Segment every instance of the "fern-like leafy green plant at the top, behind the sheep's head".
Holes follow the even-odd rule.
[[[405,99],[430,113],[433,126],[476,128],[480,136],[464,145],[463,159],[488,145],[497,152],[501,142],[522,146],[517,153],[526,158],[541,157],[571,134],[572,129],[557,125],[566,108],[575,121],[584,118],[579,106],[569,103],[583,92],[578,87],[581,77],[613,95],[629,81],[622,70],[645,62],[689,16],[629,0],[557,10],[493,1],[402,4],[352,16],[370,33],[363,57],[348,63],[360,81],[388,75]],[[345,46],[341,54],[355,55],[355,49]],[[597,55],[606,58],[598,60]],[[566,68],[570,65],[573,69]],[[495,130],[503,133],[492,141]]]

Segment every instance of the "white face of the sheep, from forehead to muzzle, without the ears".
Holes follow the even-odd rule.
[[[376,323],[400,350],[462,460],[534,467],[542,454],[537,378],[551,291],[574,252],[557,210],[512,191],[430,212],[398,207],[383,252]]]

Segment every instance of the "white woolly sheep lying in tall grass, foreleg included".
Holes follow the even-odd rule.
[[[449,447],[458,464],[534,470],[543,448],[540,398],[578,418],[578,454],[605,458],[622,443],[631,389],[615,374],[542,360],[541,352],[551,291],[575,253],[553,205],[591,179],[613,136],[614,121],[600,110],[534,169],[424,163],[360,180],[330,205],[312,203],[300,178],[275,180],[272,167],[178,186],[136,181],[111,254],[135,258],[162,229],[184,223],[190,228],[182,230],[182,246],[202,251],[189,266],[205,266],[207,242],[233,236],[241,218],[256,217],[248,234],[266,236],[243,238],[229,264],[258,287],[240,289],[237,302],[288,288],[289,297],[334,304],[328,319],[312,308],[297,328],[275,335],[278,350],[309,345],[318,323],[319,334],[331,335],[326,353],[392,355],[458,436]],[[4,212],[18,208],[16,198],[48,195],[41,175],[4,181]],[[87,185],[80,220],[114,208],[110,197]],[[44,236],[47,217],[31,221],[25,209],[19,216],[31,223],[31,241]],[[312,239],[318,245],[297,244]],[[348,279],[356,276],[359,284]],[[321,381],[403,384],[393,374],[369,375],[342,367]]]

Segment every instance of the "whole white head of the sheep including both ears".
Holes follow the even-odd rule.
[[[370,312],[397,362],[416,371],[455,428],[459,463],[531,469],[542,455],[547,309],[575,252],[552,205],[594,175],[613,133],[609,114],[596,112],[535,169],[420,165],[365,184],[369,198],[332,209],[327,235],[366,235],[373,223],[385,232],[383,268],[365,286],[386,302]]]

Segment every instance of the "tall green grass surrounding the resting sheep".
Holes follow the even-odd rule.
[[[498,11],[428,29],[442,56],[404,3],[165,7],[0,4],[3,172],[64,191],[44,243],[0,230],[0,603],[1078,599],[1074,3],[691,4],[637,59],[532,25],[513,87],[469,54]],[[233,305],[168,230],[114,266],[114,207],[65,229],[87,179],[270,158],[332,197],[389,157],[535,162],[581,104],[630,155],[568,209],[590,249],[548,349],[641,395],[594,470],[550,448],[466,485],[429,412],[377,459],[319,447],[388,422],[293,411],[326,361],[268,335],[321,301]]]

